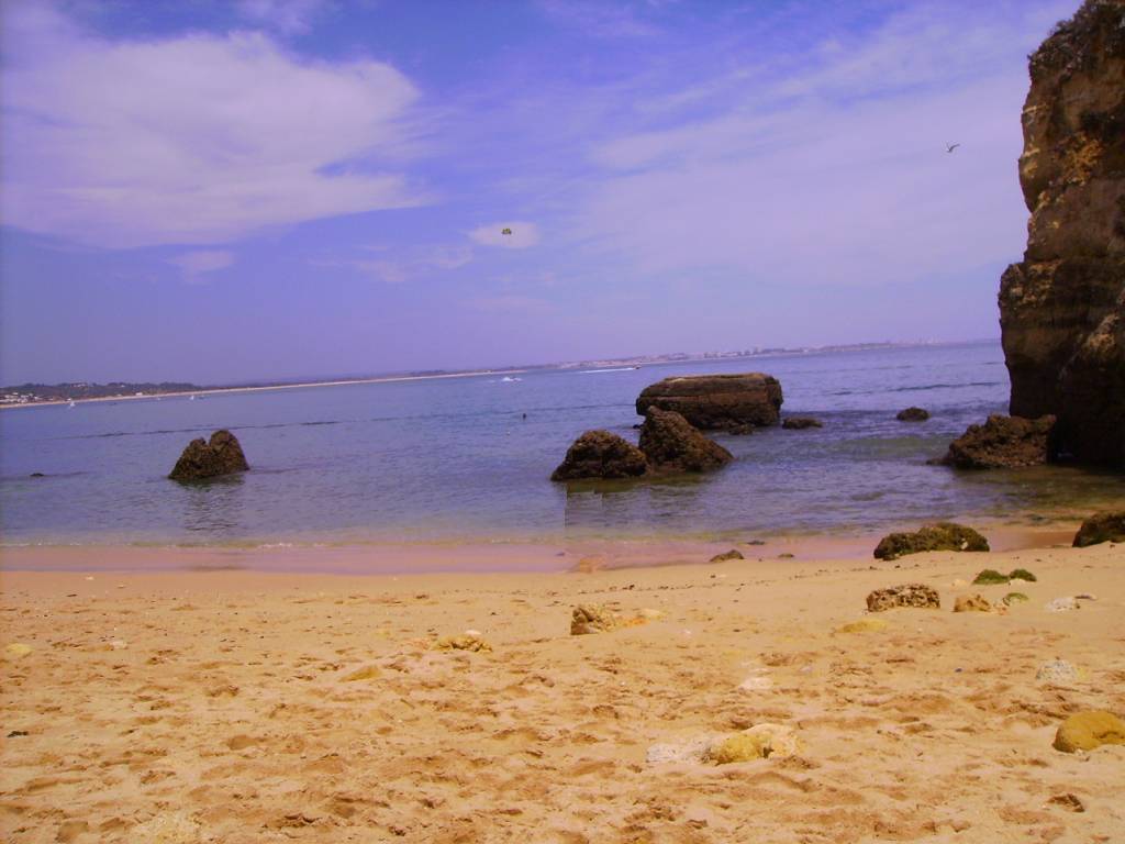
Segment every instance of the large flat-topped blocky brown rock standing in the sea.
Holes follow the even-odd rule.
[[[781,384],[771,375],[691,375],[665,378],[641,390],[637,413],[649,407],[675,411],[704,431],[775,425],[781,415]]]

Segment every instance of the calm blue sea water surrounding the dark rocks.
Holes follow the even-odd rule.
[[[548,477],[582,431],[636,439],[633,401],[669,375],[762,370],[819,430],[719,436],[736,461],[676,482]],[[354,544],[433,539],[861,532],[934,518],[1073,518],[1125,477],[927,466],[1004,412],[997,343],[831,352],[624,371],[485,375],[0,413],[0,528],[25,544]],[[929,422],[894,413],[927,407]],[[523,414],[526,414],[526,419]],[[188,440],[228,428],[252,472],[166,479]],[[32,478],[33,472],[45,477]]]

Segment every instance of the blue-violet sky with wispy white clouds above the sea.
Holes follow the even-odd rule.
[[[1077,6],[0,0],[0,383],[998,336]]]

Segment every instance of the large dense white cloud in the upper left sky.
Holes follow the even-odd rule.
[[[6,9],[0,212],[88,245],[220,243],[425,201],[402,162],[417,91],[374,61],[299,59],[261,34],[107,42]]]

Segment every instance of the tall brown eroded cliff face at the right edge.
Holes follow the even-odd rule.
[[[1125,467],[1125,0],[1087,0],[1030,57],[1027,250],[1000,280],[1015,416],[1054,457]]]

